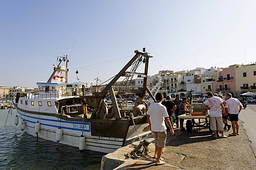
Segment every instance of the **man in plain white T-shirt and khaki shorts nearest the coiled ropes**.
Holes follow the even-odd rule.
[[[166,122],[166,124],[169,126],[171,135],[174,135],[174,131],[172,129],[171,121],[169,120],[167,109],[164,105],[161,104],[163,99],[163,94],[161,92],[158,92],[156,94],[156,103],[151,104],[147,112],[147,119],[150,126],[150,130],[153,132],[154,138],[156,140],[154,155],[154,157],[156,158],[155,165],[165,164],[165,162],[160,160],[167,137],[167,128],[164,122]]]

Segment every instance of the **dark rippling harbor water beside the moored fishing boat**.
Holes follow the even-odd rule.
[[[100,169],[106,154],[37,139],[14,124],[16,115],[0,109],[0,169]]]

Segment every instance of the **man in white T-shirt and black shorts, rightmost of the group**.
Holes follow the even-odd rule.
[[[229,136],[236,136],[239,135],[238,114],[241,112],[242,104],[238,99],[232,98],[230,93],[226,95],[226,98],[225,110],[233,129],[233,133]]]

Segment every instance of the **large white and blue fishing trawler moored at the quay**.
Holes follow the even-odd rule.
[[[147,88],[149,58],[146,52],[135,50],[135,55],[101,90],[87,94],[83,83],[68,82],[68,57],[60,57],[47,82],[37,82],[38,91],[18,93],[13,104],[17,109],[15,124],[37,138],[78,147],[79,150],[113,152],[118,148],[141,140],[151,134],[147,116],[138,116],[135,107],[143,103],[146,94],[154,96]],[[66,66],[61,66],[66,63]],[[144,72],[136,70],[144,66]],[[65,75],[62,75],[65,73]],[[143,78],[143,86],[134,91],[117,91],[114,86],[120,78],[127,85],[134,77]],[[119,108],[116,96],[135,94],[132,111]],[[111,107],[105,102],[111,98]],[[155,98],[154,98],[155,100]]]

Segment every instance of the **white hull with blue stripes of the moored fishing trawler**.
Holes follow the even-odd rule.
[[[109,138],[91,135],[91,123],[90,122],[75,122],[66,121],[55,116],[47,115],[36,115],[21,112],[17,109],[20,121],[26,121],[25,132],[38,138],[51,140],[57,142],[56,132],[59,127],[63,130],[62,138],[59,143],[74,146],[79,148],[79,138],[83,134],[85,137],[85,149],[93,150],[99,152],[110,153],[124,145],[129,145],[130,143],[138,140],[138,135],[135,133],[134,126],[130,126],[127,133],[127,140],[124,141],[122,138]],[[40,123],[40,130],[36,134],[35,124]],[[136,125],[137,131],[143,131],[143,129],[148,125],[148,123]],[[118,132],[117,132],[118,133]],[[140,138],[146,137],[150,134],[150,131],[145,131],[140,133]]]

